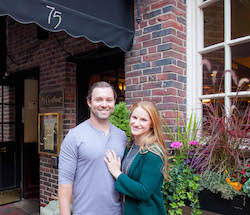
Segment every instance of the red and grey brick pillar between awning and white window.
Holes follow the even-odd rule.
[[[133,50],[126,54],[126,102],[150,100],[171,126],[186,113],[186,1],[142,1]],[[135,13],[136,15],[137,13]]]

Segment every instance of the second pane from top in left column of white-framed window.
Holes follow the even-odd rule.
[[[224,49],[202,56],[203,95],[224,92]]]

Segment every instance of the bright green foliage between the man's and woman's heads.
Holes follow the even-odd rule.
[[[120,102],[115,106],[114,113],[109,119],[112,124],[125,131],[128,139],[130,138],[129,115],[130,112],[126,108],[126,103]]]

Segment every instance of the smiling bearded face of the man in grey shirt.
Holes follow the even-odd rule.
[[[115,107],[113,90],[110,87],[97,87],[93,90],[92,97],[87,102],[91,109],[91,117],[107,120]]]

